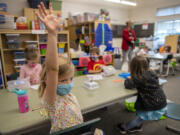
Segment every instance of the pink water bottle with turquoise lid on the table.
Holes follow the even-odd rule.
[[[18,99],[19,112],[20,113],[28,112],[29,103],[28,103],[27,91],[24,89],[14,88],[12,92],[18,95],[17,99]]]

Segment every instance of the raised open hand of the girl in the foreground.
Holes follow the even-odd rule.
[[[43,2],[38,5],[39,13],[36,13],[37,17],[44,23],[48,32],[56,33],[60,27],[60,13],[57,14],[57,18],[53,14],[52,4],[49,4],[49,13],[47,13]]]

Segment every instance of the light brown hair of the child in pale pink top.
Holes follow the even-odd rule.
[[[36,47],[25,48],[24,52],[26,60],[36,60],[39,57],[39,50]]]

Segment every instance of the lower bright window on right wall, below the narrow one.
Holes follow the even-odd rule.
[[[159,44],[163,45],[165,37],[173,34],[180,34],[180,20],[157,22],[155,36],[159,38]]]

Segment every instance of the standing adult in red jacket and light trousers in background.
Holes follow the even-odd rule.
[[[136,35],[134,32],[134,24],[131,21],[126,22],[126,28],[122,32],[122,61],[120,69],[128,57],[128,66],[132,59],[134,41],[136,41]],[[129,70],[129,67],[128,67]]]

